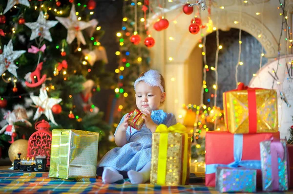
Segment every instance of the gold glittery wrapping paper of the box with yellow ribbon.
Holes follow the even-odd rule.
[[[177,123],[176,125],[178,125]],[[181,125],[181,124],[180,124]],[[159,125],[160,126],[160,125]],[[175,125],[173,125],[175,126]],[[159,156],[160,137],[162,133],[155,132],[152,134],[152,156],[150,183],[158,185],[187,185],[189,184],[190,152],[192,134],[187,133],[167,133],[167,157]],[[187,148],[185,148],[185,138]],[[186,152],[185,152],[186,150]],[[184,156],[186,156],[184,164]],[[166,162],[166,174],[158,174],[159,160]],[[184,175],[184,168],[186,169]],[[163,176],[165,182],[160,182],[160,176]]]

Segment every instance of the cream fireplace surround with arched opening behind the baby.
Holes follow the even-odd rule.
[[[168,0],[165,1],[167,7],[172,5]],[[287,0],[286,4],[287,10],[293,10],[293,0]],[[225,8],[220,9],[220,6]],[[282,17],[279,15],[281,9],[277,9],[278,6],[278,0],[248,0],[248,3],[243,3],[242,0],[215,0],[211,8],[211,19],[214,27],[218,29],[241,28],[253,35],[263,45],[266,52],[265,57],[272,60],[278,55],[278,39],[282,24]],[[181,10],[180,7],[177,10],[170,11],[165,14],[165,17],[171,20],[178,16]],[[256,12],[261,13],[261,15],[256,15]],[[261,22],[261,16],[263,17],[263,23]],[[292,17],[288,17],[289,23],[292,23]],[[170,22],[166,30],[161,32],[151,31],[156,40],[155,46],[151,49],[152,68],[161,71],[165,76],[167,82],[165,110],[174,113],[177,118],[183,112],[182,104],[200,103],[202,71],[199,71],[199,67],[201,65],[196,66],[198,69],[192,67],[194,63],[190,62],[190,59],[192,58],[192,61],[201,60],[201,56],[195,56],[198,53],[195,48],[201,35],[189,33],[188,26],[191,18],[192,15],[181,14],[176,18],[177,23]],[[201,12],[201,18],[204,23],[208,21],[207,10]],[[235,24],[234,21],[239,21],[239,23]],[[205,29],[202,33],[203,36],[208,34]],[[262,34],[261,38],[258,37],[260,34]],[[170,36],[173,37],[173,40],[169,39]],[[281,54],[285,53],[284,39],[283,36],[281,38]],[[172,57],[173,60],[169,61],[169,57]],[[192,87],[188,84],[185,85],[190,80],[193,80]]]

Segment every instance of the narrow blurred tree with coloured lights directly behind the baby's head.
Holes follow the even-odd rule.
[[[150,65],[148,48],[153,44],[147,44],[149,32],[146,28],[146,17],[149,12],[149,1],[131,2],[124,1],[122,31],[117,33],[120,42],[119,67],[115,70],[118,77],[118,85],[115,88],[116,97],[120,97],[118,111],[121,114],[115,118],[116,122],[121,117],[136,108],[134,81],[141,72],[147,71]],[[117,124],[115,125],[117,126]]]

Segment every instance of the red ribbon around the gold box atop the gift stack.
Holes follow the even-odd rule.
[[[238,85],[237,89],[233,89],[230,91],[237,91],[237,90],[247,90],[248,92],[248,118],[249,118],[249,133],[256,133],[257,131],[257,114],[256,114],[256,95],[255,90],[256,89],[263,89],[263,88],[249,88],[248,86],[245,86],[243,83],[240,83]],[[226,99],[227,92],[224,93],[224,98],[226,102],[226,112],[227,115],[227,99]],[[228,127],[228,116],[226,116],[226,123],[227,123],[227,130],[229,131]]]

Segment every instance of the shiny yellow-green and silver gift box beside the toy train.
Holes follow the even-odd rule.
[[[99,133],[54,129],[49,177],[96,177]]]

